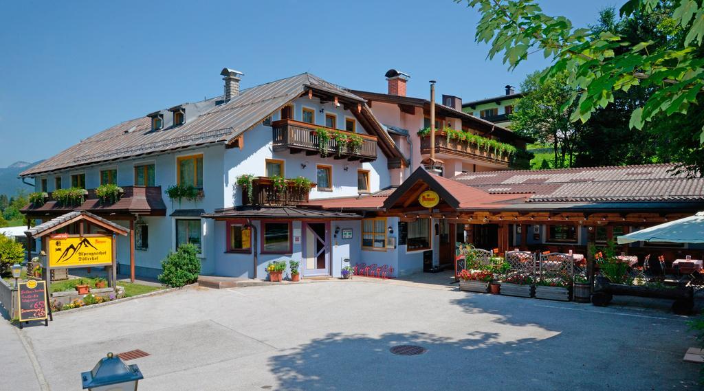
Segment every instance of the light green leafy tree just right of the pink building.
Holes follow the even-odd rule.
[[[566,72],[545,81],[541,81],[541,72],[528,75],[521,83],[523,98],[509,115],[515,132],[553,145],[554,168],[572,167],[577,136],[575,124],[570,121],[570,110],[563,108],[572,94],[566,80]]]

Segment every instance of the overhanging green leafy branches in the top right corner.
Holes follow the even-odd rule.
[[[704,88],[702,0],[628,0],[620,8],[624,18],[647,20],[664,14],[657,32],[667,37],[665,44],[658,41],[658,34],[653,37],[638,29],[575,28],[567,18],[543,13],[536,0],[467,2],[482,14],[475,39],[491,46],[489,58],[503,53],[504,63],[513,69],[529,54],[541,51],[553,61],[543,72],[544,79],[567,72],[572,95],[565,107],[572,110],[572,122],[586,122],[597,110],[615,103],[617,93],[637,86],[648,94],[632,102],[632,110],[627,108],[629,127],[645,129],[648,122],[681,117],[693,124],[693,133],[667,136],[686,143],[689,161],[696,161],[691,154],[700,146],[691,143],[704,141],[704,122],[694,122],[698,117],[693,110]],[[670,130],[677,131],[665,129]],[[701,172],[701,167],[686,168]]]

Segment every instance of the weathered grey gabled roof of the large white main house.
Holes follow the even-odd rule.
[[[244,89],[221,105],[214,105],[214,99],[203,101],[210,102],[213,107],[181,126],[151,131],[151,120],[146,116],[122,122],[26,169],[20,177],[168,150],[230,142],[308,89],[334,94],[360,104],[363,109],[361,113],[357,113],[356,109],[352,111],[360,116],[360,121],[369,125],[368,130],[377,136],[382,151],[390,158],[401,156],[394,147],[393,140],[366,107],[363,98],[320,77],[303,73]]]

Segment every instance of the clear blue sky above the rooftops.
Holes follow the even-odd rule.
[[[615,0],[541,0],[575,25]],[[244,88],[312,72],[409,96],[496,96],[547,63],[513,72],[474,43],[478,14],[451,0],[10,1],[0,13],[0,167],[49,158],[85,137],[161,108],[222,94],[224,67]]]

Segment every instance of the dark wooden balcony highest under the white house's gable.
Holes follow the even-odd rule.
[[[335,159],[360,160],[362,162],[377,160],[377,138],[375,136],[351,133],[294,120],[275,121],[272,127],[274,129],[275,151],[289,150],[291,153],[305,152],[306,155],[318,155],[320,154],[320,148],[318,146],[318,134],[316,134],[315,129],[325,129],[328,132],[340,134],[356,134],[363,139],[359,150],[353,151],[347,145],[341,146],[338,150],[337,141],[331,137],[327,141],[327,146],[324,147],[327,156]]]

